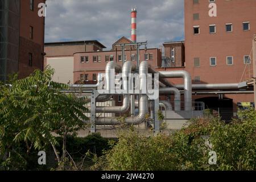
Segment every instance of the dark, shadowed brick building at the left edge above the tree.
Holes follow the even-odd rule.
[[[45,0],[0,1],[0,81],[43,70],[44,17],[38,16]]]

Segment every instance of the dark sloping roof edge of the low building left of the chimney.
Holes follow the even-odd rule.
[[[102,48],[106,48],[103,44],[98,42],[98,40],[81,40],[81,41],[71,41],[71,42],[50,42],[44,43],[44,46],[75,46],[75,45],[84,45],[84,44],[97,44]]]

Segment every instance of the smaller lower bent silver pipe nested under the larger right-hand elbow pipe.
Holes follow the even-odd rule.
[[[180,111],[181,110],[181,94],[180,90],[174,87],[167,87],[167,88],[160,88],[159,95],[161,94],[168,94],[174,93],[174,110]]]

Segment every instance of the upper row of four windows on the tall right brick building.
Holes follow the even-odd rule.
[[[226,32],[233,32],[233,24],[232,23],[226,23]],[[243,22],[242,23],[243,31],[249,31],[250,30],[250,22]],[[193,26],[193,33],[194,35],[200,34],[200,26]],[[209,33],[215,34],[216,33],[216,24],[210,24],[209,25]]]

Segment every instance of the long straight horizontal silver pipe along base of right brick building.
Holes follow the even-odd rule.
[[[175,85],[177,89],[183,89],[184,85]],[[192,90],[196,89],[238,89],[238,84],[193,84]]]

